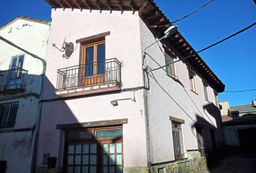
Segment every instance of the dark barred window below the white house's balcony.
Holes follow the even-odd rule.
[[[13,128],[19,102],[0,104],[0,128]]]

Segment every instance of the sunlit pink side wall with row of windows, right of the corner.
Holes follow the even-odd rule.
[[[140,20],[140,35],[142,48],[146,48],[155,42],[153,34],[142,20]],[[146,52],[162,66],[165,65],[164,49],[161,43],[153,45]],[[182,58],[179,55],[174,56],[176,60]],[[150,66],[150,68],[158,67],[148,56],[145,58],[145,65]],[[162,69],[153,71],[159,84],[170,96],[163,92],[163,89],[149,76],[150,91],[146,92],[145,99],[147,101],[145,104],[148,105],[146,109],[148,110],[149,120],[151,163],[174,160],[173,137],[169,116],[178,117],[185,121],[184,125],[182,125],[185,152],[198,148],[195,124],[204,126],[202,130],[205,148],[212,148],[209,128],[216,130],[216,143],[222,142],[220,127],[216,129],[216,119],[219,121],[221,115],[218,107],[215,105],[213,89],[208,86],[208,102],[205,100],[202,79],[197,75],[195,76],[196,94],[190,90],[187,66],[182,61],[175,63],[174,66],[177,76],[176,80],[167,76],[166,72]],[[210,114],[216,115],[216,119]]]

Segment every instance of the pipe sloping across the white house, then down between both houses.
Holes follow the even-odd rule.
[[[32,156],[32,164],[30,167],[30,173],[33,173],[33,172],[35,172],[35,159],[36,159],[36,154],[38,151],[38,136],[39,136],[40,119],[41,119],[41,115],[42,115],[42,105],[43,105],[43,103],[41,101],[43,100],[44,78],[46,75],[46,61],[43,58],[40,58],[39,56],[36,56],[35,54],[30,53],[29,51],[27,51],[23,48],[20,48],[20,46],[15,45],[14,43],[5,39],[4,37],[0,36],[0,40],[4,41],[5,43],[7,43],[9,45],[12,45],[14,48],[22,50],[23,52],[27,53],[28,55],[32,56],[33,58],[40,60],[43,63],[43,71],[42,71],[42,74],[40,75],[40,76],[42,76],[42,82],[41,82],[40,94],[39,94],[40,100],[38,101],[39,115],[38,115],[38,119],[35,123],[35,138],[34,138],[34,144],[33,144],[33,156]]]

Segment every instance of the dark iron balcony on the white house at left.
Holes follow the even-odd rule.
[[[0,93],[22,92],[22,81],[27,71],[22,68],[13,68],[0,71]]]

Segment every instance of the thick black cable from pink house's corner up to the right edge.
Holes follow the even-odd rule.
[[[242,29],[242,30],[239,30],[239,32],[236,32],[236,33],[234,33],[233,35],[230,35],[229,37],[225,37],[224,39],[222,39],[222,40],[220,40],[220,41],[218,41],[218,42],[216,42],[216,43],[213,43],[212,45],[209,45],[209,46],[206,47],[206,48],[203,48],[203,49],[197,51],[196,53],[192,53],[191,55],[186,56],[185,58],[181,58],[181,59],[179,59],[179,60],[177,60],[177,61],[173,61],[173,62],[171,62],[171,63],[177,63],[177,62],[183,61],[183,60],[185,60],[185,59],[187,59],[187,58],[191,58],[192,56],[197,55],[197,53],[200,53],[200,52],[202,52],[202,51],[204,51],[204,50],[207,50],[207,49],[209,49],[209,48],[212,48],[213,46],[218,45],[218,44],[222,43],[223,41],[228,40],[228,39],[231,38],[231,37],[234,37],[234,36],[236,36],[236,35],[239,35],[240,33],[242,33],[242,32],[244,32],[244,31],[248,30],[248,29],[251,28],[251,27],[253,27],[255,24],[256,24],[256,22],[254,22],[252,25],[249,25],[248,27],[245,27],[245,28]],[[167,63],[167,64],[164,65],[164,66],[161,66],[161,67],[158,67],[158,68],[154,68],[152,71],[156,71],[156,70],[158,70],[158,69],[160,69],[160,68],[166,67],[166,66],[170,65],[171,63]]]

